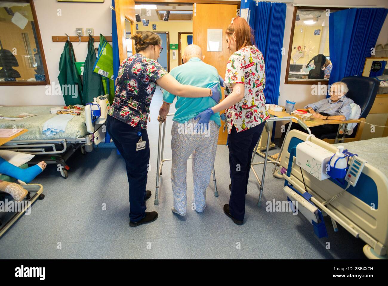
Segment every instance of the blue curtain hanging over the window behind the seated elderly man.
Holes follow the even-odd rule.
[[[329,84],[343,77],[360,76],[371,57],[388,9],[353,8],[330,13],[329,51],[333,69]]]

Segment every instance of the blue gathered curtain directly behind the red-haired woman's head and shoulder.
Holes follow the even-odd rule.
[[[286,4],[241,0],[241,9],[249,8],[249,26],[255,35],[256,47],[265,61],[265,101],[277,104],[279,99],[280,72]]]

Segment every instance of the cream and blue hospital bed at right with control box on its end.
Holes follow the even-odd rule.
[[[282,176],[286,179],[285,188],[300,194],[313,206],[317,207],[322,215],[329,215],[334,230],[336,223],[342,225],[354,237],[362,239],[366,245],[364,253],[370,259],[387,258],[388,252],[388,137],[374,138],[357,142],[342,143],[352,153],[366,160],[357,184],[348,186],[333,178],[318,180],[296,164],[294,150],[298,144],[310,140],[329,152],[335,153],[338,148],[307,133],[291,130],[284,141],[281,153]],[[292,157],[292,164],[289,164]],[[284,173],[286,172],[287,173]],[[284,189],[285,190],[285,189]],[[286,190],[285,190],[286,191]],[[324,203],[338,193],[342,196],[333,201]],[[303,200],[302,199],[302,200]],[[324,226],[323,217],[318,223],[310,221],[315,234],[319,237],[327,236],[327,232],[319,231]],[[338,228],[337,228],[338,229]],[[320,236],[321,235],[321,236]]]

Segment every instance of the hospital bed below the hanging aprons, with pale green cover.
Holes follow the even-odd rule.
[[[28,164],[37,164],[44,160],[48,164],[57,164],[57,170],[64,178],[68,177],[69,166],[66,161],[78,149],[81,153],[92,152],[94,144],[97,145],[105,138],[104,124],[95,124],[92,130],[87,128],[85,112],[80,115],[74,115],[66,125],[64,132],[59,132],[54,136],[46,136],[42,133],[43,125],[50,118],[57,114],[51,114],[50,109],[54,106],[1,106],[0,114],[2,116],[13,116],[26,112],[36,114],[21,120],[0,120],[0,128],[14,129],[25,128],[28,132],[21,134],[17,138],[4,145],[1,149],[17,152],[29,153],[35,155]],[[93,131],[89,132],[88,131]]]

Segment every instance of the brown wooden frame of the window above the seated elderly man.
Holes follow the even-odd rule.
[[[290,42],[288,46],[288,56],[287,56],[287,68],[286,68],[286,76],[284,80],[284,84],[329,84],[328,80],[288,80],[288,74],[290,69],[290,61],[291,61],[291,52],[293,47],[293,40],[294,40],[294,31],[295,31],[295,20],[296,20],[296,14],[298,12],[298,8],[300,10],[326,10],[330,9],[330,12],[336,12],[340,10],[345,10],[349,8],[343,8],[343,7],[311,7],[311,6],[295,6],[294,12],[293,12],[293,18],[292,18],[292,26],[291,26],[291,35],[290,35]]]

